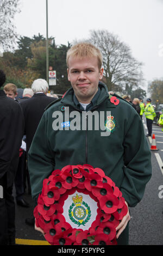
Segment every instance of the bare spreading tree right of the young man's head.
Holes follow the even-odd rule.
[[[125,92],[127,87],[133,89],[140,86],[143,80],[142,63],[131,55],[129,46],[121,42],[117,35],[106,30],[93,30],[89,41],[103,54],[103,81],[109,90],[119,88]]]

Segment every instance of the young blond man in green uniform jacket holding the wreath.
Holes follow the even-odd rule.
[[[151,153],[139,115],[127,101],[117,95],[109,96],[108,88],[99,82],[103,77],[102,54],[95,46],[87,43],[72,46],[67,52],[67,74],[72,88],[46,108],[29,150],[33,198],[37,199],[43,179],[54,169],[87,163],[103,169],[120,188],[127,206],[134,207],[143,197],[151,178]],[[98,120],[99,129],[95,129],[97,119],[92,123],[92,129],[87,123],[74,127],[72,117],[66,121],[67,109],[70,115],[76,111],[80,118],[77,123],[81,124],[84,122],[83,112],[99,115],[103,112],[105,121],[106,114],[111,112],[114,129],[106,127],[105,121],[101,124],[101,119]],[[63,118],[61,123],[55,113]],[[135,136],[138,131],[139,138]],[[118,245],[128,244],[129,220],[128,211],[116,228]],[[40,228],[35,228],[43,233]]]

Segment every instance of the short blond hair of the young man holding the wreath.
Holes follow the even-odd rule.
[[[84,57],[97,57],[99,70],[102,67],[102,53],[94,45],[87,42],[80,42],[79,44],[73,45],[68,51],[66,56],[66,63],[68,67],[68,59],[70,56],[84,58]]]

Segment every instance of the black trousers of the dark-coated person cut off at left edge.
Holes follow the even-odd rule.
[[[13,186],[7,187],[7,177],[0,179],[0,245],[15,243],[15,202]],[[2,193],[3,192],[3,193]]]

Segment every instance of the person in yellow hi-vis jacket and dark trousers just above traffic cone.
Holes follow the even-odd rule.
[[[146,137],[150,137],[152,135],[152,124],[153,124],[153,119],[156,116],[156,113],[154,111],[154,108],[151,104],[151,99],[147,99],[147,105],[145,107],[145,117],[147,121],[147,129],[148,129],[148,134]]]

